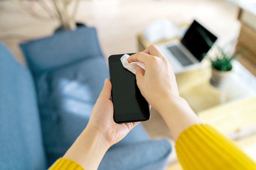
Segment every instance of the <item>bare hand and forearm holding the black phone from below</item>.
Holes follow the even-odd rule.
[[[96,170],[105,152],[139,123],[114,122],[113,103],[110,100],[111,88],[110,80],[106,79],[86,128],[63,156],[86,170]]]

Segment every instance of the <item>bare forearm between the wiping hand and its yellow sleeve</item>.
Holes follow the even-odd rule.
[[[162,100],[157,111],[165,120],[174,140],[177,140],[186,128],[202,123],[187,101],[179,96]]]

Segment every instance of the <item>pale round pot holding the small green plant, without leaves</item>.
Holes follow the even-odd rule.
[[[217,88],[225,88],[228,86],[230,71],[219,71],[212,68],[212,77],[210,79],[211,85]]]

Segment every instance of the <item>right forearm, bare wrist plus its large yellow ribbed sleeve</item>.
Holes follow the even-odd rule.
[[[255,169],[252,159],[211,126],[202,124],[181,97],[162,102],[159,113],[167,123],[183,169]]]

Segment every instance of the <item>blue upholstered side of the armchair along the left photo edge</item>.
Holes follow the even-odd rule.
[[[45,169],[33,79],[0,42],[0,169]]]

